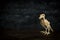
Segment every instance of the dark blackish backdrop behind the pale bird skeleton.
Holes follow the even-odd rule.
[[[0,29],[5,35],[39,33],[43,29],[38,19],[41,12],[46,14],[54,31],[60,31],[60,4],[56,0],[2,0],[0,4]]]

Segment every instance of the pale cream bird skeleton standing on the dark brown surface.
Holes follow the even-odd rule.
[[[45,14],[40,14],[39,16],[40,24],[45,29],[45,31],[41,31],[44,34],[50,34],[53,29],[51,28],[50,22],[45,18]]]

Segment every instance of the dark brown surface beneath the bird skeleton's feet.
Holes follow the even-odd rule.
[[[43,35],[40,31],[16,31],[1,30],[0,40],[60,40],[60,32],[54,32],[48,36]]]

